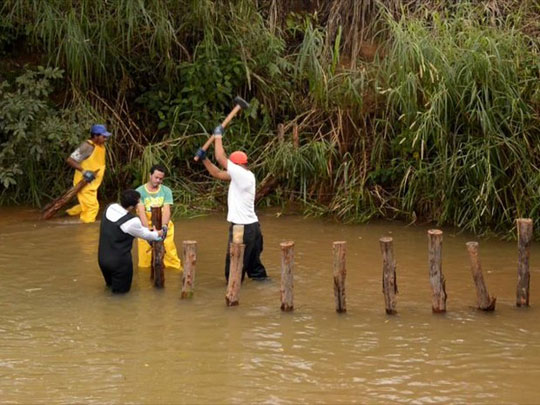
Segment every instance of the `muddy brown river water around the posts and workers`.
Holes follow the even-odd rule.
[[[112,296],[97,265],[99,223],[0,215],[0,403],[540,403],[540,244],[531,306],[515,307],[516,242],[442,228],[446,314],[432,314],[428,227],[340,225],[260,212],[270,282],[225,306],[224,214],[176,221],[198,241],[195,294],[181,273],[156,290],[136,269]],[[394,238],[398,314],[384,311],[381,236]],[[296,242],[295,311],[280,311],[280,249]],[[337,314],[332,242],[347,241],[347,309]],[[465,243],[480,242],[493,313],[474,309]],[[134,248],[135,249],[135,248]]]

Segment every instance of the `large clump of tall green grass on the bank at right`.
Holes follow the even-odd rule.
[[[540,198],[538,48],[508,21],[465,12],[387,18],[379,82],[395,124],[380,141],[402,211],[498,230]]]

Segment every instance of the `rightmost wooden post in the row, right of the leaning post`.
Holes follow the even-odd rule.
[[[518,283],[516,291],[516,305],[518,307],[529,306],[529,256],[533,236],[533,222],[530,218],[517,220],[518,231]]]

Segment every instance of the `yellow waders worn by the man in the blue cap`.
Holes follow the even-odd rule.
[[[81,215],[81,221],[84,223],[94,222],[96,220],[99,211],[99,202],[97,200],[97,190],[103,181],[103,175],[105,174],[105,146],[96,145],[92,141],[87,141],[94,146],[94,151],[88,158],[81,162],[81,167],[84,170],[92,170],[96,174],[96,178],[87,184],[78,194],[77,199],[79,204],[73,206],[66,212],[69,215]],[[73,176],[73,185],[79,183],[82,180],[82,173],[78,170],[75,171]]]

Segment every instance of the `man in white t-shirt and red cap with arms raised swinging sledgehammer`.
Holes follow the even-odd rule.
[[[227,221],[229,226],[229,241],[225,257],[225,278],[229,280],[231,256],[229,245],[232,241],[233,225],[244,225],[244,266],[242,280],[247,273],[252,280],[265,280],[266,269],[261,262],[263,251],[263,236],[259,219],[255,214],[255,175],[247,168],[248,157],[242,151],[231,153],[229,158],[223,149],[223,127],[219,125],[214,130],[216,160],[226,171],[220,170],[216,165],[206,159],[203,149],[197,151],[199,160],[213,177],[230,181],[227,197]]]

